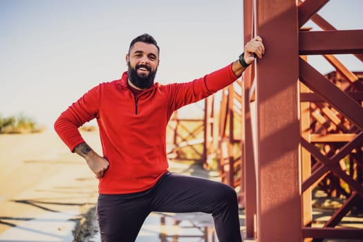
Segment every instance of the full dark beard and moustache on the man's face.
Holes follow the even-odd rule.
[[[127,76],[129,77],[130,82],[138,87],[139,89],[149,89],[151,86],[153,86],[153,80],[155,79],[156,71],[158,69],[156,68],[155,71],[151,71],[151,68],[146,65],[137,65],[136,68],[132,68],[130,62],[127,63],[127,66],[129,66],[129,70],[127,73]],[[149,75],[138,75],[138,68],[144,67],[147,68],[149,71]]]

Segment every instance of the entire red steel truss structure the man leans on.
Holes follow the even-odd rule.
[[[174,152],[183,146],[180,139],[189,146],[199,140],[203,148],[192,149],[205,167],[217,153],[221,178],[239,191],[245,209],[245,238],[363,238],[362,229],[339,226],[363,201],[363,73],[335,57],[352,54],[363,62],[363,30],[335,29],[317,14],[327,3],[244,0],[244,41],[263,37],[263,59],[223,90],[218,128],[214,97],[205,100],[205,117],[198,121],[204,129],[185,137],[177,131],[183,120],[172,120]],[[309,19],[322,30],[304,28]],[[335,71],[319,73],[309,55],[322,55]],[[317,185],[346,198],[320,227],[312,208]]]

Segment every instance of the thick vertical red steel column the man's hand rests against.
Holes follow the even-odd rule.
[[[256,69],[257,238],[301,241],[297,1],[256,3],[256,35],[266,46]]]

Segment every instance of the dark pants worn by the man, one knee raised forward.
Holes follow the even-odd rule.
[[[241,242],[234,189],[223,183],[167,172],[155,186],[134,194],[100,194],[97,216],[103,242],[133,242],[151,212],[212,214],[220,242]]]

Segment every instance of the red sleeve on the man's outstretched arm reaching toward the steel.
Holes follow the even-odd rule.
[[[192,82],[169,84],[167,85],[169,112],[172,113],[182,106],[198,102],[230,85],[237,78],[230,64]]]

